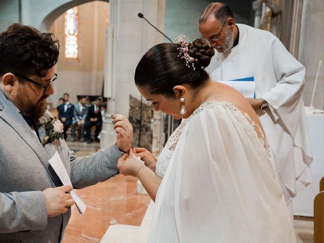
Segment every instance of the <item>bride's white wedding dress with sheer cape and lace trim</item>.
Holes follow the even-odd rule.
[[[266,138],[228,102],[201,104],[158,157],[149,243],[296,242]]]

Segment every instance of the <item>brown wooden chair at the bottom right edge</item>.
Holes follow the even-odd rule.
[[[324,177],[314,199],[314,243],[324,243]]]

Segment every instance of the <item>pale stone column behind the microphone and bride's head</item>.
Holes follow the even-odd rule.
[[[108,31],[112,32],[112,42],[107,43],[106,47],[112,49],[112,61],[106,63],[106,70],[112,73],[108,73],[111,75],[110,83],[109,78],[105,79],[105,89],[111,89],[105,91],[108,98],[107,115],[119,113],[128,117],[130,95],[140,99],[134,84],[135,68],[150,47],[164,42],[164,36],[137,14],[143,13],[153,25],[164,31],[165,6],[165,0],[110,1]],[[106,38],[108,40],[109,37]],[[113,125],[109,121],[106,119],[103,124],[101,147],[115,141]]]

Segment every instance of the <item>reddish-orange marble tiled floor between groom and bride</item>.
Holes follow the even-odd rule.
[[[99,143],[69,142],[70,149],[79,150],[76,156],[90,155],[99,149]],[[150,198],[137,194],[134,177],[118,175],[108,181],[77,191],[85,201],[87,210],[80,215],[73,206],[72,216],[65,230],[63,243],[99,242],[109,225],[139,226]]]

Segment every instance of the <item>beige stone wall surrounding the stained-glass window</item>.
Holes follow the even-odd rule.
[[[60,40],[60,55],[56,65],[59,78],[49,101],[56,106],[63,93],[77,103],[77,95],[101,95],[104,78],[105,29],[109,23],[109,4],[94,1],[78,6],[78,58],[65,58],[64,14],[49,29]]]

